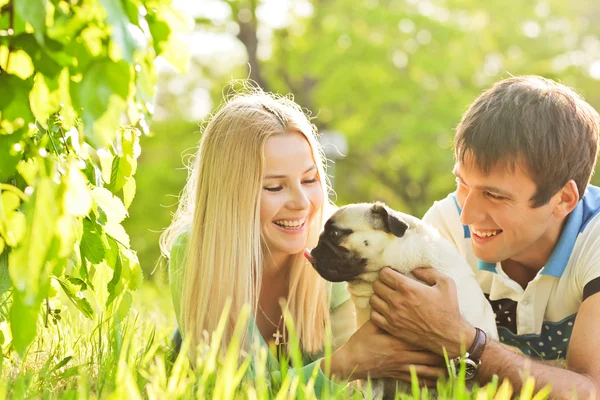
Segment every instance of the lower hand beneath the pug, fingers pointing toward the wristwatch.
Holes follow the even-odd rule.
[[[331,357],[331,375],[349,381],[370,377],[410,382],[411,366],[427,385],[435,384],[447,372],[443,357],[402,342],[371,320]]]

